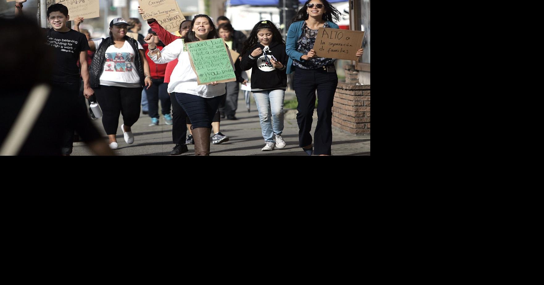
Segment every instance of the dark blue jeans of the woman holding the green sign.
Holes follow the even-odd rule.
[[[222,97],[225,96],[225,94],[223,94],[213,98],[204,98],[187,93],[174,92],[174,94],[177,102],[180,103],[183,110],[187,113],[187,116],[189,116],[192,123],[191,129],[211,129],[213,117],[215,116],[215,113],[217,113],[219,102],[221,102]]]

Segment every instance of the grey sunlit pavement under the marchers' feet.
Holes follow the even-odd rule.
[[[299,128],[296,124],[296,110],[285,110],[285,121],[282,137],[287,143],[283,149],[273,151],[261,151],[264,147],[264,139],[259,124],[257,106],[251,96],[250,112],[247,111],[243,92],[238,96],[237,121],[222,119],[220,131],[228,136],[230,141],[221,144],[211,144],[210,155],[295,155],[308,156],[298,143]],[[286,92],[286,100],[294,99],[294,92]],[[160,108],[159,108],[160,111]],[[102,120],[94,120],[93,123],[108,141],[106,132],[102,126]],[[134,143],[127,144],[123,140],[121,132],[122,117],[119,118],[117,141],[119,149],[114,150],[116,155],[165,155],[174,147],[172,143],[172,126],[164,124],[164,117],[160,117],[159,125],[149,126],[151,119],[148,115],[140,114],[140,119],[132,126]],[[312,131],[315,130],[317,116],[314,111]],[[313,136],[313,133],[312,133]],[[194,145],[188,145],[189,151],[182,155],[194,155]],[[82,142],[73,144],[72,155],[94,155]],[[332,128],[332,155],[370,155],[370,135],[351,135],[347,132]]]

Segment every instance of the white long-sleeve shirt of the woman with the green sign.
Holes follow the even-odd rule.
[[[188,93],[204,98],[213,98],[226,93],[225,83],[219,83],[215,86],[198,85],[196,73],[191,67],[189,61],[189,52],[183,51],[183,40],[177,39],[165,46],[163,50],[158,48],[147,53],[151,60],[156,64],[166,64],[174,59],[178,59],[168,84],[168,92]]]

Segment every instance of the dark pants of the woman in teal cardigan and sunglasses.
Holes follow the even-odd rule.
[[[338,77],[336,72],[326,72],[323,68],[296,68],[294,89],[296,100],[296,122],[299,125],[299,147],[312,143],[312,116],[316,104],[317,90],[317,126],[314,132],[314,154],[331,154],[332,144],[332,100],[335,98]]]

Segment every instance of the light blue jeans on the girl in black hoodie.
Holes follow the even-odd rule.
[[[274,134],[283,132],[283,99],[285,90],[264,90],[253,93],[265,142],[274,142]],[[270,121],[270,117],[272,120]]]

